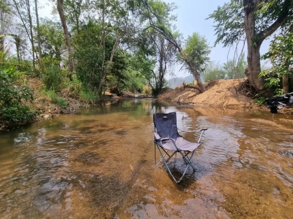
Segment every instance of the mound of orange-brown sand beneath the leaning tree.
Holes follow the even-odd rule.
[[[248,107],[253,103],[251,98],[239,93],[238,79],[210,81],[205,84],[208,88],[204,93],[199,93],[192,88],[178,86],[175,89],[165,89],[157,98],[172,102],[188,102],[196,105],[219,107]]]

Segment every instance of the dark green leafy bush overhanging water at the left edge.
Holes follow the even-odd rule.
[[[13,65],[0,69],[0,120],[8,126],[23,124],[37,113],[28,105],[33,100],[33,91],[20,83],[21,74]]]

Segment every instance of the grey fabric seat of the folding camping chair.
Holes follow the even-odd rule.
[[[202,143],[195,143],[190,142],[183,137],[178,137],[176,139],[173,139],[176,146],[178,147],[179,151],[190,151],[193,152],[195,149],[197,149]],[[175,145],[173,144],[172,140],[156,140],[156,143],[163,147],[166,150],[169,151],[178,151]]]

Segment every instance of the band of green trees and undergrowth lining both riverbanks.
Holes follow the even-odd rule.
[[[176,63],[200,93],[203,81],[245,76],[257,97],[293,90],[292,1],[230,0],[210,14],[215,44],[235,48],[233,60],[223,65],[210,60],[212,47],[200,30],[183,38],[174,25],[177,8],[162,0],[56,0],[52,14],[59,19],[53,20],[39,18],[37,0],[1,1],[2,124],[16,126],[38,113],[26,85],[31,78],[42,81],[38,89],[63,112],[94,104],[106,91],[156,96]],[[274,32],[260,57],[262,42]],[[262,69],[261,58],[272,67]]]

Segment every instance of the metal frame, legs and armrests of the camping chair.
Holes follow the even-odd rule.
[[[177,130],[180,130],[180,129],[177,128]],[[184,132],[201,132],[201,133],[200,133],[200,138],[199,138],[199,140],[197,141],[197,143],[201,143],[200,140],[201,140],[201,138],[202,138],[202,134],[203,134],[204,131],[206,131],[206,130],[207,130],[207,128],[206,128],[206,129],[199,130],[199,131],[196,131],[196,130],[193,130],[193,131],[184,131],[184,130],[180,130],[180,131],[184,131]],[[154,125],[154,132],[156,132],[156,126],[155,126],[155,125]],[[156,132],[156,133],[157,133],[157,132]],[[161,145],[158,145],[158,144],[156,143],[156,141],[158,141],[158,140],[159,140],[159,141],[163,141],[163,140],[171,140],[171,141],[173,142],[174,146],[176,147],[176,151],[174,151],[171,155],[168,154],[168,150],[165,150],[163,147],[161,147]],[[197,168],[195,167],[195,165],[194,165],[193,162],[191,161],[192,158],[193,158],[193,155],[195,154],[195,151],[196,151],[197,148],[196,148],[195,150],[193,150],[192,152],[190,152],[190,151],[183,151],[183,150],[180,150],[180,149],[176,146],[174,140],[171,139],[171,138],[160,138],[160,139],[156,139],[156,138],[154,138],[154,159],[155,159],[155,164],[156,164],[156,147],[157,147],[157,149],[158,149],[158,151],[159,151],[159,153],[160,153],[160,155],[161,155],[161,157],[162,157],[162,159],[158,162],[157,166],[159,165],[159,163],[160,163],[161,161],[164,161],[164,163],[165,163],[165,165],[166,165],[166,168],[167,168],[169,174],[171,175],[171,177],[173,178],[173,180],[174,180],[176,183],[180,183],[180,182],[181,182],[181,180],[183,179],[183,177],[184,177],[184,175],[185,175],[185,173],[186,173],[186,171],[187,171],[187,169],[188,169],[189,166],[191,166],[191,167],[193,168],[194,171],[197,170]],[[164,155],[162,154],[160,148],[165,152]],[[184,172],[183,172],[183,174],[182,174],[182,176],[180,177],[179,180],[176,180],[176,178],[175,178],[174,175],[172,174],[172,172],[171,172],[171,170],[170,170],[170,168],[168,167],[168,164],[167,164],[167,162],[168,162],[168,161],[169,161],[169,160],[170,160],[170,159],[171,159],[171,158],[172,158],[177,152],[179,152],[179,153],[182,155],[183,160],[184,160],[185,162],[187,162],[187,166],[186,166],[186,168],[185,168],[185,170],[184,170]],[[184,154],[183,154],[183,152],[184,152]],[[190,153],[192,153],[192,154],[191,154],[190,157],[188,157],[188,154],[190,154]],[[166,156],[166,155],[168,155],[168,158],[167,158],[167,159],[165,159],[165,156]],[[187,159],[186,159],[186,157],[187,157]]]

